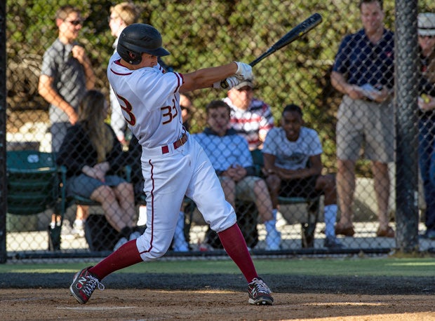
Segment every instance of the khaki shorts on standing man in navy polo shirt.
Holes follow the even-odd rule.
[[[337,114],[337,158],[394,161],[394,107],[392,101],[378,103],[353,100],[344,95]]]

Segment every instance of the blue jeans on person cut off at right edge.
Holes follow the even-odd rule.
[[[435,230],[435,116],[422,117],[418,122],[418,163],[426,201],[427,231]]]

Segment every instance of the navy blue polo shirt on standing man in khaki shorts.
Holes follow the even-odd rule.
[[[363,86],[394,86],[394,33],[384,29],[382,38],[372,43],[364,29],[344,37],[335,56],[333,71],[343,74],[347,82]]]

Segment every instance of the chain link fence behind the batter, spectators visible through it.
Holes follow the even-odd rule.
[[[384,1],[382,10],[377,1],[363,1],[360,10],[359,1],[350,0],[152,0],[129,6],[90,0],[68,1],[74,9],[58,11],[64,2],[6,1],[8,169],[2,179],[11,193],[2,217],[10,259],[105,255],[145,228],[140,146],[119,117],[119,104],[111,104],[106,76],[123,23],[159,29],[171,53],[161,65],[187,73],[250,62],[315,12],[323,22],[257,64],[252,82],[229,92],[189,93],[181,102],[185,126],[208,153],[253,251],[433,249],[435,241],[418,234],[435,228],[434,214],[428,215],[435,201],[429,162],[434,123],[432,111],[419,111],[417,103],[435,97],[435,76],[420,68],[435,59],[420,61],[416,36],[417,14],[435,13],[433,1]],[[435,24],[430,19],[427,24]],[[370,42],[361,29],[376,24],[389,31],[370,31]],[[231,117],[218,112],[227,110],[220,104],[206,109],[222,100]],[[283,113],[290,104],[302,115],[291,108]],[[217,135],[220,118],[237,135]],[[46,209],[34,213],[41,204],[26,202],[39,188],[17,192],[15,182],[32,179],[14,178],[10,169],[34,165],[44,153],[57,161],[45,167],[58,170],[59,202],[43,201]],[[79,176],[89,177],[88,170],[105,162],[109,186]],[[230,179],[231,167],[239,166],[243,179]],[[13,196],[28,210],[13,213]],[[341,247],[328,243],[335,232]],[[223,252],[188,198],[170,251]]]

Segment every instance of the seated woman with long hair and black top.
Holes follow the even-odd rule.
[[[105,217],[120,234],[114,250],[138,238],[135,231],[133,184],[116,175],[121,167],[121,144],[107,116],[105,96],[89,90],[79,107],[77,123],[68,128],[60,146],[58,165],[67,168],[67,196],[79,195],[101,203]]]

